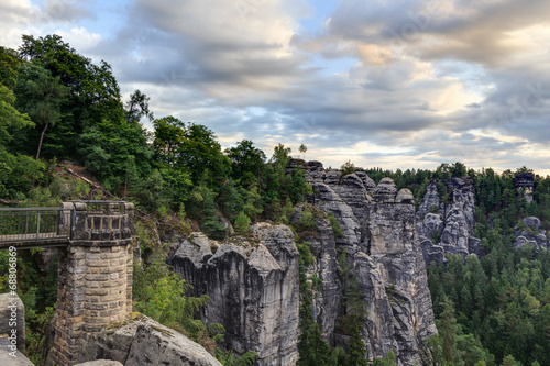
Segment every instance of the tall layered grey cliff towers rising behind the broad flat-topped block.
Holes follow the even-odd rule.
[[[393,350],[399,365],[411,365],[420,343],[437,332],[413,195],[407,189],[398,192],[388,178],[375,187],[363,170],[340,177],[321,168],[318,162],[309,163],[306,178],[315,192],[309,201],[334,213],[344,233],[336,248],[348,249],[361,282],[369,312],[362,326],[369,357],[384,357]],[[337,342],[345,340],[338,331],[334,336]]]

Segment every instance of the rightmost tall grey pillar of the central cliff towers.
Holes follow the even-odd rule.
[[[355,256],[371,308],[365,328],[371,336],[365,342],[370,354],[382,357],[392,348],[398,354],[398,364],[413,365],[422,340],[437,333],[415,208],[375,202],[370,207],[367,229],[370,255]]]

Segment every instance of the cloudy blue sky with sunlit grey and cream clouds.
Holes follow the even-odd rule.
[[[223,147],[550,175],[548,0],[0,2],[0,45],[54,33]]]

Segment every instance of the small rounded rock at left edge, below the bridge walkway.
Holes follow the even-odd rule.
[[[10,323],[15,323],[14,326]],[[0,335],[16,334],[16,346],[25,352],[25,307],[18,295],[0,295]]]

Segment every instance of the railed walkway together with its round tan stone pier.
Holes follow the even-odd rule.
[[[58,247],[57,320],[48,364],[74,365],[81,346],[132,311],[132,203],[70,201],[0,209],[0,249]]]

